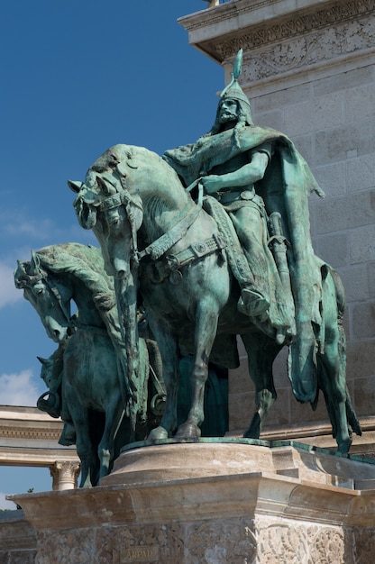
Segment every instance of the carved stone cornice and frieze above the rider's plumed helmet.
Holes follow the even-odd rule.
[[[241,0],[180,18],[189,41],[224,66],[243,49],[242,86],[285,82],[314,68],[356,68],[374,52],[374,0],[253,3]],[[356,61],[356,62],[354,62]],[[327,70],[325,70],[327,68]]]

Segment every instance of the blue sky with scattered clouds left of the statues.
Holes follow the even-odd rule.
[[[0,404],[35,405],[45,391],[36,357],[56,348],[14,288],[16,260],[50,244],[96,244],[67,179],[83,180],[115,143],[161,154],[210,129],[224,72],[177,23],[203,9],[203,0],[2,4]],[[48,469],[0,467],[3,493],[50,484]]]

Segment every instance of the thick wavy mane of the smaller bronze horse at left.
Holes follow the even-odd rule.
[[[52,274],[69,273],[82,281],[93,297],[108,296],[114,302],[114,281],[105,273],[101,250],[80,243],[62,243],[37,250],[41,268]]]

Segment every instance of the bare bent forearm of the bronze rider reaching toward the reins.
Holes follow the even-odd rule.
[[[224,188],[237,188],[238,186],[249,186],[264,177],[269,155],[265,151],[253,151],[252,160],[238,170],[221,175],[208,175],[202,178],[206,194],[215,194]]]

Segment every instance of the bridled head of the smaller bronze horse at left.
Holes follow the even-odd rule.
[[[32,252],[32,260],[17,261],[14,283],[23,289],[24,298],[39,314],[50,339],[65,342],[69,337],[69,291],[41,268],[38,253]]]

